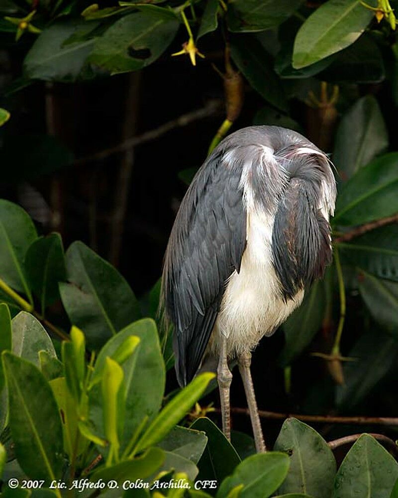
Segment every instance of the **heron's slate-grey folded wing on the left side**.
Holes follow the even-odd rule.
[[[163,273],[181,385],[197,373],[225,283],[239,272],[246,243],[240,171],[210,156],[185,195],[170,236]]]

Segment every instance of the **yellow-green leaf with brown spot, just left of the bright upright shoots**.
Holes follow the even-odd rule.
[[[72,459],[78,433],[77,403],[67,388],[65,377],[50,380],[49,384],[61,413],[64,450],[69,458]],[[76,456],[82,454],[87,447],[87,443],[87,439],[80,437]]]

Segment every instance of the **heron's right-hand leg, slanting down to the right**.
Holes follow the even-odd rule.
[[[261,429],[260,417],[258,414],[256,395],[254,393],[252,375],[250,373],[250,364],[252,360],[251,353],[243,353],[238,356],[239,373],[243,380],[247,405],[249,407],[250,419],[252,422],[254,442],[256,443],[257,453],[265,453],[267,448],[264,443],[263,431]]]

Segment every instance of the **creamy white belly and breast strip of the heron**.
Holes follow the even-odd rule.
[[[247,246],[240,272],[230,276],[214,326],[210,348],[219,350],[219,335],[228,338],[228,355],[255,348],[271,335],[301,303],[304,291],[285,302],[272,265],[273,217],[251,212],[247,218]],[[215,351],[214,351],[215,350]]]

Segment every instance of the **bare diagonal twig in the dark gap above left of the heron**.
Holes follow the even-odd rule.
[[[218,113],[221,113],[221,110],[222,103],[219,100],[211,100],[202,109],[197,109],[196,111],[183,114],[175,120],[171,120],[165,124],[160,125],[158,128],[146,131],[141,135],[133,136],[132,138],[124,140],[122,143],[119,143],[114,147],[109,147],[107,149],[100,150],[99,152],[95,152],[94,154],[81,157],[80,159],[77,159],[75,161],[75,164],[80,166],[88,162],[100,161],[101,159],[105,159],[106,157],[109,157],[118,152],[123,152],[124,150],[128,150],[131,147],[135,147],[136,145],[141,145],[142,143],[155,140],[156,138],[159,138],[172,129],[181,128],[195,121],[214,116]]]

